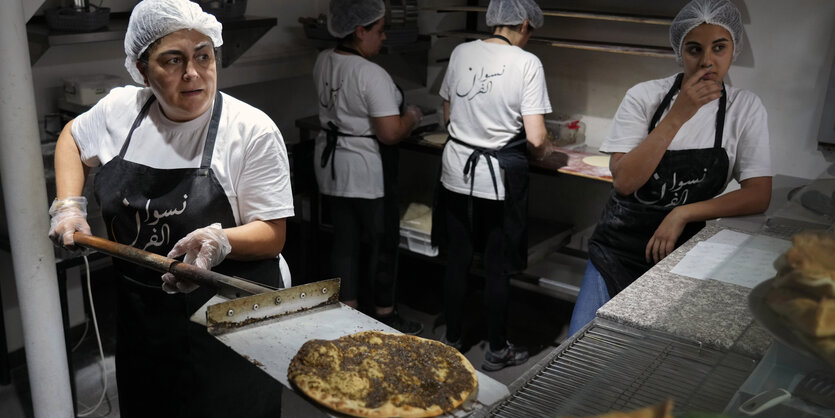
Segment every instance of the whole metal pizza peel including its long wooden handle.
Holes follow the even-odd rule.
[[[218,341],[294,393],[287,370],[308,340],[334,340],[360,331],[399,333],[339,302],[339,278],[276,290],[92,235],[76,232],[73,239],[78,246],[216,289],[217,294],[191,316],[191,321],[206,326]],[[479,371],[476,374],[477,393],[447,416],[466,416],[510,395],[505,385]],[[306,406],[309,414],[340,416],[313,402],[298,406]]]

